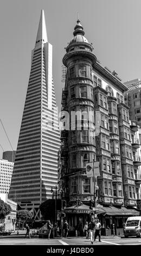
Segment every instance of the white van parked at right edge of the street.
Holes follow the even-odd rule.
[[[128,237],[135,235],[141,237],[141,216],[129,217],[125,224],[124,236]]]

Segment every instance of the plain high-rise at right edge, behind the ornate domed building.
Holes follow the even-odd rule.
[[[130,119],[135,119],[141,127],[141,81],[134,79],[124,83],[128,90],[124,94],[125,103],[129,106]]]

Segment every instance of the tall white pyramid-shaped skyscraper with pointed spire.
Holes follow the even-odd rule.
[[[52,198],[57,185],[57,153],[60,131],[57,119],[53,76],[52,45],[48,42],[44,11],[41,11],[31,71],[18,138],[9,198],[23,209],[33,209]]]

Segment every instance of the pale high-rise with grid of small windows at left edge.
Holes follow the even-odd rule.
[[[0,193],[9,193],[14,162],[0,160]]]

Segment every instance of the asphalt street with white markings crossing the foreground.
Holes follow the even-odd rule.
[[[125,238],[102,238],[101,242],[98,239],[91,245],[91,240],[85,237],[57,237],[55,239],[39,239],[38,237],[25,238],[24,234],[20,236],[10,235],[10,236],[0,236],[0,245],[44,245],[44,246],[54,246],[54,245],[75,245],[75,246],[120,246],[120,245],[141,245],[141,239],[137,237]]]

